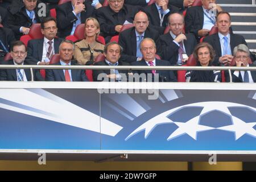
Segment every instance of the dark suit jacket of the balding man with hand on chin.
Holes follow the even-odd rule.
[[[193,53],[193,50],[197,44],[196,38],[193,34],[185,34],[187,40],[184,40],[185,51],[188,56]],[[177,63],[179,56],[179,46],[173,42],[173,38],[170,33],[160,36],[160,43],[163,51],[163,59],[170,61],[171,65]]]

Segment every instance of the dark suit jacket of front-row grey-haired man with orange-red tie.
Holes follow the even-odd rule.
[[[52,64],[60,65],[60,63]],[[71,61],[71,65],[77,65]],[[83,69],[71,69],[72,81],[88,81]],[[65,81],[63,69],[46,69],[46,81]]]

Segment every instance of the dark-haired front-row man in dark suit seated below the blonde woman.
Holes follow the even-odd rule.
[[[104,47],[104,56],[106,59],[94,65],[130,65],[119,60],[122,52],[122,47],[116,42],[110,42]],[[130,71],[126,69],[93,69],[94,81],[127,81],[127,76]],[[132,74],[132,73],[131,73]]]

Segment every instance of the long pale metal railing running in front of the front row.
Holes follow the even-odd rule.
[[[181,67],[181,66],[97,66],[97,65],[0,65],[0,69],[30,69],[31,81],[34,81],[33,69],[127,69],[127,70],[212,70],[228,71],[232,82],[231,71],[256,71],[256,67]]]

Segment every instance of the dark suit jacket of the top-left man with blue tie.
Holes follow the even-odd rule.
[[[46,16],[39,16],[41,14],[42,10],[38,7],[40,1],[38,1],[36,8],[35,8],[35,18],[36,23],[41,23],[42,20],[49,16],[49,8],[46,5]],[[27,27],[30,28],[32,25],[32,20],[27,15],[25,5],[23,4],[21,7],[18,6],[9,6],[9,12],[7,15],[7,20],[5,26],[11,28],[11,30],[14,31],[15,37],[18,40],[20,36],[22,36],[22,33],[19,32],[20,27]]]

